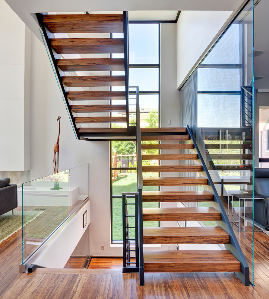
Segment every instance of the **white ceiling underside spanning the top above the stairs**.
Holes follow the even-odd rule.
[[[5,0],[40,38],[36,12],[68,11],[236,11],[243,0]],[[158,16],[160,14],[158,13]],[[160,16],[161,17],[161,16]],[[164,17],[166,18],[166,17]],[[170,19],[170,15],[169,15]]]

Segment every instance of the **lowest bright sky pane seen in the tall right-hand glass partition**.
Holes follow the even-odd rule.
[[[197,95],[198,127],[240,127],[240,95]]]

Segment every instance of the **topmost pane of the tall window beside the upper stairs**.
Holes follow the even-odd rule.
[[[158,24],[129,24],[129,63],[158,63]]]

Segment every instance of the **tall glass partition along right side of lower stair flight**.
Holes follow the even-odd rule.
[[[241,242],[252,283],[253,89],[253,2],[250,1],[180,90],[180,126],[188,125],[193,132],[229,222]],[[207,186],[198,187],[204,189]],[[249,241],[242,243],[242,238]]]

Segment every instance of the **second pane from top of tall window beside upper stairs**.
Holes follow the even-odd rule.
[[[139,86],[139,91],[159,90],[159,69],[151,68],[151,69],[130,69],[130,85],[131,86]]]

